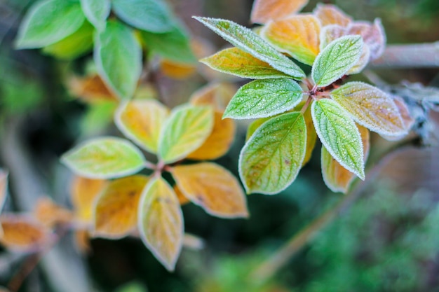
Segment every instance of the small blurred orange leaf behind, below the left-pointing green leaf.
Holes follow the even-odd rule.
[[[102,179],[86,179],[75,176],[72,181],[71,195],[76,218],[81,223],[91,223],[93,220],[93,202],[97,195],[107,186]]]

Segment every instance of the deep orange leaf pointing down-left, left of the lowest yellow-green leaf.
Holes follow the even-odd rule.
[[[148,176],[134,175],[110,182],[95,202],[93,235],[117,239],[133,232],[140,195],[148,181]]]

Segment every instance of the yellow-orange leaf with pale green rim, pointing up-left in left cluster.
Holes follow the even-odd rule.
[[[169,110],[154,99],[136,99],[119,107],[114,118],[121,132],[146,151],[157,152],[161,127]]]

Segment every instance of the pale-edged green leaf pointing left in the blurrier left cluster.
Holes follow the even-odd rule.
[[[140,150],[129,141],[114,137],[92,139],[62,155],[73,172],[90,179],[114,179],[144,167]]]

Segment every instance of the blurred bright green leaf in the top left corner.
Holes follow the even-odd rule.
[[[51,45],[76,32],[85,19],[77,1],[41,1],[22,21],[15,46],[22,49]]]

